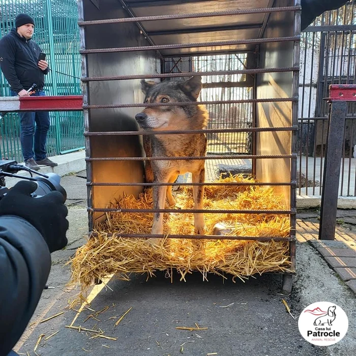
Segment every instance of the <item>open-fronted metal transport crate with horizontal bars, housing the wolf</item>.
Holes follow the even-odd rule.
[[[252,152],[212,154],[206,157],[206,162],[251,160],[257,185],[273,186],[277,194],[284,195],[286,210],[257,213],[290,217],[290,234],[283,239],[289,242],[290,269],[295,270],[300,10],[300,0],[79,1],[90,230],[105,219],[106,212],[113,211],[106,207],[112,199],[120,198],[123,193],[137,196],[145,186],[143,162],[146,158],[134,115],[143,107],[155,104],[143,104],[140,79],[240,75],[249,78],[245,84],[251,88],[250,98],[209,100],[200,104],[250,104],[251,127],[226,129],[215,126],[207,133],[252,133]],[[174,71],[176,66],[173,64],[167,70],[166,63],[172,58],[229,54],[245,56],[242,69],[196,72],[192,66],[186,66],[183,72]],[[235,80],[236,86],[244,86],[242,82],[241,79]],[[160,132],[164,133],[171,134]],[[150,211],[154,212],[159,211]],[[228,213],[256,212],[230,210]],[[123,236],[148,238],[152,235]],[[216,235],[169,237],[217,238]],[[268,241],[279,240],[280,236],[225,238]],[[286,292],[291,290],[292,274],[283,274],[283,290]]]

